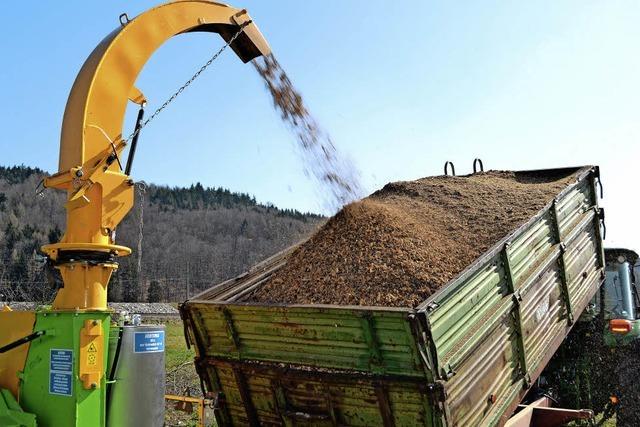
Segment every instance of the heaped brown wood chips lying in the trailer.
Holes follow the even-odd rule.
[[[329,219],[251,300],[416,306],[574,180],[492,171],[387,184]]]

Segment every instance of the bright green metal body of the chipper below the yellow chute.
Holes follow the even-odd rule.
[[[100,320],[104,334],[104,357],[107,361],[110,315],[104,312],[50,312],[36,314],[34,330],[46,334],[33,341],[20,384],[20,405],[37,414],[38,426],[102,427],[105,425],[106,388],[103,376],[100,387],[85,390],[78,376],[80,330],[85,320]],[[71,350],[71,396],[50,392],[51,350]]]

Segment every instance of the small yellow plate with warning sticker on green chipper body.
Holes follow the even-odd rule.
[[[100,388],[104,372],[104,336],[101,320],[85,320],[80,330],[80,355],[78,375],[87,389]]]

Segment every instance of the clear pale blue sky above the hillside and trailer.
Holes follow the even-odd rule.
[[[62,113],[94,46],[155,1],[3,5],[0,164],[57,169]],[[239,0],[369,191],[440,174],[599,164],[609,245],[640,249],[640,2]],[[138,87],[155,108],[221,39],[163,46]],[[134,113],[132,109],[132,113]],[[130,120],[131,122],[131,120]],[[130,123],[129,123],[130,124]],[[146,128],[134,176],[319,209],[253,68],[230,52]]]

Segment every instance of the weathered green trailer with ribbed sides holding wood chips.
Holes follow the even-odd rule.
[[[502,425],[604,278],[597,167],[414,308],[246,302],[289,249],[181,306],[219,425]]]

